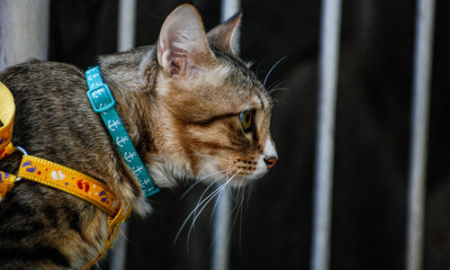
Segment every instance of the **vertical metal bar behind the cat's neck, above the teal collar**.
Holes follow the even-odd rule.
[[[132,49],[135,43],[136,30],[136,0],[119,1],[119,18],[117,27],[117,49],[125,51]],[[127,261],[128,222],[121,223],[121,234],[114,244],[112,252],[111,270],[124,270]]]

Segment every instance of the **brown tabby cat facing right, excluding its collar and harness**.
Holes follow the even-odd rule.
[[[99,58],[139,156],[159,187],[180,181],[242,186],[275,165],[272,101],[238,58],[241,14],[206,33],[182,4],[163,23],[157,43]],[[147,215],[131,174],[86,96],[77,67],[31,60],[0,81],[14,94],[13,143],[103,182],[133,213]],[[0,160],[17,171],[22,155]],[[77,269],[103,249],[107,215],[93,204],[43,184],[20,181],[0,202],[0,269]]]

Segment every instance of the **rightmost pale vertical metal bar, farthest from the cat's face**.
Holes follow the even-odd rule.
[[[434,0],[419,0],[416,10],[413,98],[411,105],[410,189],[406,268],[419,270],[427,175],[428,106],[433,49]]]

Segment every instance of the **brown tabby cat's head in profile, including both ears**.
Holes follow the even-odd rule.
[[[163,23],[156,85],[163,134],[154,134],[150,168],[161,186],[172,185],[166,174],[240,186],[277,161],[271,98],[237,56],[240,17],[205,33],[195,8],[183,4]]]

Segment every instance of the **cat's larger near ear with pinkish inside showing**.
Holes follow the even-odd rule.
[[[215,59],[202,18],[191,4],[178,6],[166,18],[157,40],[157,61],[168,76],[196,76]]]

